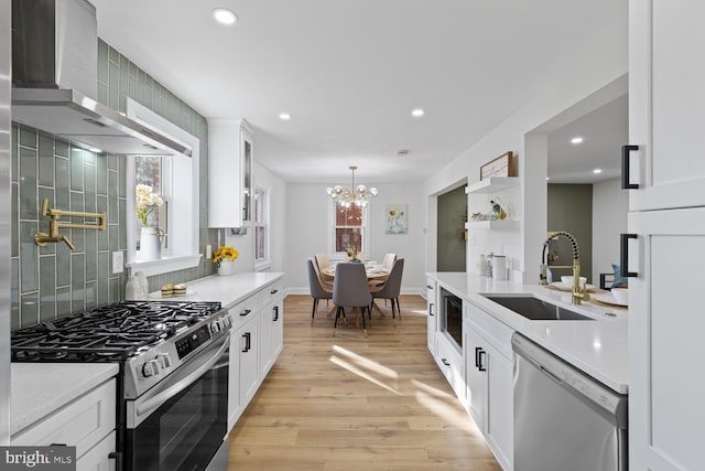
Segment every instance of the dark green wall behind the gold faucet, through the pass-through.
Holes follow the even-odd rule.
[[[593,278],[593,185],[550,184],[547,200],[547,231],[565,231],[575,236],[581,250],[581,276],[598,286],[599,279]],[[573,248],[568,240],[552,242],[550,250],[560,255],[553,265],[573,265]],[[554,281],[561,281],[561,275],[573,274],[571,269],[552,271]]]

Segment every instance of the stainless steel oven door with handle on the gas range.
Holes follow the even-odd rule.
[[[229,335],[127,403],[127,470],[205,470],[227,433]]]

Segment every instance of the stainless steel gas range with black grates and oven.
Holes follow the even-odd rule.
[[[116,468],[227,469],[230,317],[219,302],[126,301],[12,333],[13,362],[116,362]]]

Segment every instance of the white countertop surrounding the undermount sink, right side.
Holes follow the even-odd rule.
[[[571,304],[571,293],[539,285],[498,281],[465,272],[430,272],[447,290],[490,313],[611,389],[627,394],[627,310],[584,302]],[[490,301],[482,293],[528,293],[558,303],[595,321],[532,321]],[[608,317],[606,313],[617,314]]]

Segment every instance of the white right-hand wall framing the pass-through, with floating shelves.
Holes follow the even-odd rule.
[[[542,143],[546,132],[556,128],[571,114],[589,113],[625,92],[627,81],[627,4],[616,2],[619,10],[610,18],[609,28],[596,34],[593,47],[586,49],[579,60],[565,64],[561,77],[546,84],[546,92],[536,96],[517,113],[499,124],[479,142],[467,149],[451,163],[424,181],[424,194],[433,197],[443,189],[465,176],[468,183],[479,180],[484,163],[512,151],[519,162],[522,201],[511,202],[521,228],[513,232],[490,232],[478,236],[475,246],[468,244],[467,266],[475,266],[477,254],[497,250],[501,246],[514,264],[512,279],[531,282],[538,280],[541,245],[546,234],[546,156]],[[518,79],[521,79],[518,75]],[[581,104],[578,107],[574,105]],[[570,110],[570,113],[566,113]],[[577,116],[574,116],[575,119]],[[557,119],[557,118],[561,119]],[[566,121],[567,122],[567,121]],[[431,205],[430,205],[431,207]],[[469,208],[471,211],[471,208]],[[431,211],[429,212],[431,213]],[[427,254],[435,251],[435,224],[426,222]],[[431,256],[427,256],[432,259]],[[434,269],[429,267],[430,270]]]

